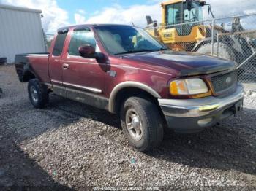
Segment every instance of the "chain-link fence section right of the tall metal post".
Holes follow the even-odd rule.
[[[213,54],[235,61],[240,81],[254,85],[256,90],[256,15],[241,15],[217,21],[224,23],[227,29],[217,33],[217,50]]]

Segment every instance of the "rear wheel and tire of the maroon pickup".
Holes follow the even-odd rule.
[[[49,93],[47,87],[42,85],[38,79],[30,79],[28,85],[28,93],[31,104],[34,108],[43,108],[49,101]]]

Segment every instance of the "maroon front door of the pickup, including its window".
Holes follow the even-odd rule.
[[[83,58],[78,52],[78,47],[84,44],[95,47],[96,52],[100,51],[94,32],[85,27],[70,31],[69,34],[69,43],[64,48],[65,54],[61,60],[66,96],[77,101],[90,102],[86,104],[100,104],[98,102],[104,97],[106,63],[98,63],[94,58]]]

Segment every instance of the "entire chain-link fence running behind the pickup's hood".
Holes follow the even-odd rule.
[[[256,90],[256,14],[146,27],[171,50],[198,52],[235,61],[241,82]]]

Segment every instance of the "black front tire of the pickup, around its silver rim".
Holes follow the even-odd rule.
[[[141,121],[141,139],[135,140],[129,133],[127,120],[128,112],[135,111]],[[121,106],[120,112],[121,126],[124,134],[127,136],[129,144],[138,149],[140,152],[147,152],[157,147],[163,139],[163,121],[159,114],[159,109],[153,101],[145,98],[131,97],[128,98]]]

